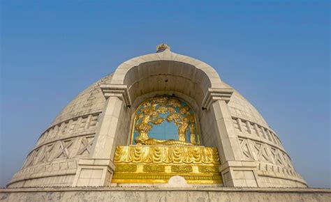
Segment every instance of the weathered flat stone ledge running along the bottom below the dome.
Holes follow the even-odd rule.
[[[117,187],[0,189],[0,201],[331,201],[330,189]]]

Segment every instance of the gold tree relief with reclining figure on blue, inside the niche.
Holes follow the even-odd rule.
[[[161,115],[163,114],[163,115]],[[163,117],[161,117],[161,116]],[[174,123],[178,127],[178,140],[154,139],[148,136],[154,125],[164,121]],[[135,132],[138,136],[135,143],[145,145],[196,145],[196,119],[193,111],[184,101],[163,95],[145,100],[135,113]],[[186,139],[189,134],[190,141]]]

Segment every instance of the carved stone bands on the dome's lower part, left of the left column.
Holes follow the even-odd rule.
[[[34,180],[35,182],[27,182],[29,186],[38,186],[37,180],[45,178],[40,185],[46,183],[47,185],[68,185],[69,182],[61,182],[61,176],[75,175],[77,169],[77,161],[81,157],[88,157],[91,153],[91,145],[94,142],[95,134],[85,134],[68,139],[60,139],[50,143],[43,144],[31,151],[22,169],[15,173],[14,177],[8,183],[10,186],[13,183]],[[53,182],[48,182],[57,177],[61,179],[54,179]],[[47,178],[47,179],[46,179]],[[53,183],[53,184],[52,184]]]

